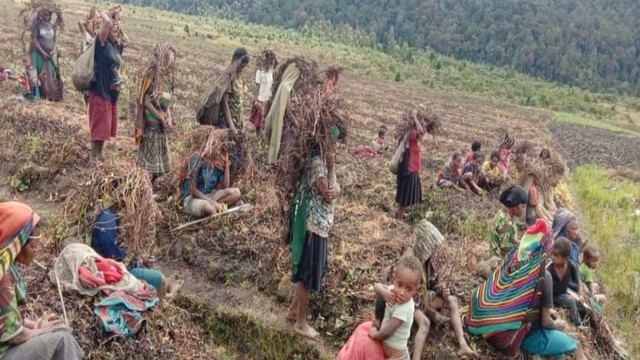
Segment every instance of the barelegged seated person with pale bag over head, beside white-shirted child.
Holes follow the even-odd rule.
[[[444,237],[440,231],[427,220],[423,220],[416,228],[413,247],[408,250],[408,254],[414,255],[422,264],[427,282],[425,284],[427,296],[422,301],[417,301],[418,310],[414,315],[418,332],[414,340],[413,360],[422,358],[424,344],[431,325],[438,327],[447,321],[451,322],[451,327],[456,334],[458,356],[477,357],[478,355],[469,347],[464,338],[458,299],[451,295],[451,291],[444,282],[440,282],[440,277],[433,263],[433,254],[443,242]],[[443,308],[449,310],[449,318],[440,314],[439,311]]]

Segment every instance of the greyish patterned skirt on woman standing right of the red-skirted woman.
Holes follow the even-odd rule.
[[[171,169],[167,135],[147,127],[140,141],[138,161],[153,176],[164,175]]]

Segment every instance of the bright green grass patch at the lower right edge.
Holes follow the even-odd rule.
[[[640,355],[640,217],[634,212],[640,186],[590,165],[578,167],[573,180],[585,238],[600,249],[597,277],[607,292],[605,313],[635,358]]]

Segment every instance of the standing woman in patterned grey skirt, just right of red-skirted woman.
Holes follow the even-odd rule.
[[[156,46],[152,64],[142,79],[138,97],[136,142],[138,161],[151,175],[151,182],[171,168],[167,131],[171,128],[175,50],[168,42]]]

